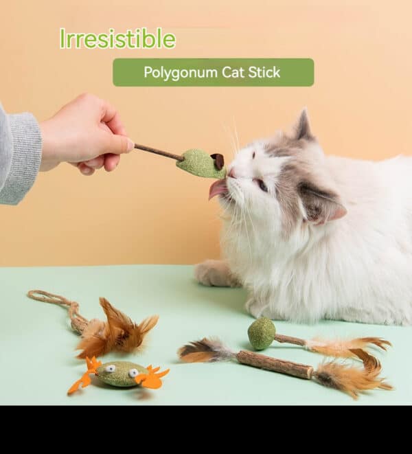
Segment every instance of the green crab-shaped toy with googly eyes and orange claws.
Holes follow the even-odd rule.
[[[132,387],[141,385],[145,388],[158,389],[161,387],[161,377],[169,373],[169,369],[163,372],[157,372],[160,367],[153,368],[151,365],[143,367],[139,364],[130,363],[130,361],[112,361],[104,363],[98,361],[93,356],[92,359],[86,358],[87,371],[80,380],[76,381],[67,394],[87,387],[91,383],[90,374],[95,374],[103,383],[117,387]]]

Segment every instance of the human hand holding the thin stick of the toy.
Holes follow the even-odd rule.
[[[122,153],[133,150],[133,141],[116,109],[95,95],[84,93],[52,118],[40,124],[43,150],[40,170],[69,162],[84,175],[104,167],[115,170]]]

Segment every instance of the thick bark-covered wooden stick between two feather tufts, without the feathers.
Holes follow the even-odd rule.
[[[247,352],[241,350],[236,354],[239,363],[259,367],[260,369],[279,372],[280,374],[293,375],[295,377],[310,380],[312,378],[313,367],[311,365],[293,363],[283,359],[271,358],[260,353]]]

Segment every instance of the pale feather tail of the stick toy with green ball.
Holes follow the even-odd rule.
[[[325,341],[323,339],[311,339],[306,341],[306,348],[311,352],[324,354],[325,356],[336,356],[341,358],[356,357],[352,350],[366,350],[371,345],[382,350],[391,347],[391,343],[380,337],[359,337],[358,339]]]

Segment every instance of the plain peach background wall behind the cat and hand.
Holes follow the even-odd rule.
[[[129,4],[128,4],[129,3]],[[308,106],[325,151],[380,159],[412,152],[411,3],[392,1],[8,1],[0,8],[0,100],[52,115],[79,93],[110,100],[130,137],[231,157]],[[359,5],[359,3],[362,3]],[[408,4],[409,3],[409,4]],[[176,49],[60,50],[58,29],[162,26]],[[310,88],[117,88],[116,57],[310,57]],[[412,177],[412,176],[411,176]],[[112,174],[61,165],[16,207],[0,207],[0,265],[193,263],[218,257],[211,181],[143,152]]]

